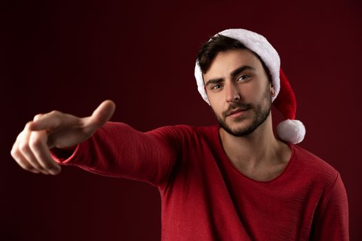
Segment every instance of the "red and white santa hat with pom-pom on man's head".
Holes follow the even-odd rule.
[[[305,127],[301,121],[295,119],[296,98],[287,77],[285,76],[283,70],[281,70],[281,61],[278,52],[276,52],[264,36],[261,36],[256,32],[239,28],[223,30],[218,34],[240,41],[246,48],[252,50],[260,56],[265,63],[265,66],[268,67],[272,78],[272,84],[275,90],[275,95],[272,96],[272,102],[276,109],[278,109],[285,118],[284,121],[281,121],[281,123],[277,125],[276,134],[278,134],[281,140],[288,143],[301,143],[305,136]],[[215,34],[215,36],[218,34]],[[205,85],[203,83],[203,73],[201,72],[198,61],[195,65],[194,74],[199,93],[203,97],[203,100],[210,105],[208,95],[205,92]]]

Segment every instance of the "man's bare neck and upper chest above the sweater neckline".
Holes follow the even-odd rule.
[[[221,143],[232,163],[245,169],[258,169],[288,163],[290,148],[275,138],[271,115],[248,136],[232,136],[219,129]]]

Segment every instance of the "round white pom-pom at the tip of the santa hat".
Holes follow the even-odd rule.
[[[285,120],[276,126],[276,133],[281,140],[285,140],[292,144],[298,144],[304,139],[305,127],[301,121]]]

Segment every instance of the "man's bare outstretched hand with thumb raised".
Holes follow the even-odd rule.
[[[54,162],[49,149],[74,150],[78,143],[83,143],[109,121],[114,109],[112,101],[103,101],[92,116],[85,118],[58,111],[37,114],[17,136],[11,156],[27,171],[57,175],[61,167]]]

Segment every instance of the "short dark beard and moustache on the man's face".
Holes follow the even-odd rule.
[[[217,121],[219,121],[221,127],[225,130],[225,132],[228,132],[228,134],[232,136],[247,136],[248,134],[254,132],[254,130],[257,129],[257,127],[259,127],[261,124],[263,124],[266,118],[268,118],[270,110],[272,108],[272,98],[269,92],[270,92],[270,87],[267,88],[267,90],[265,91],[263,95],[263,101],[261,101],[261,103],[259,103],[259,105],[255,107],[251,104],[232,103],[225,112],[222,112],[221,116],[218,116],[214,112],[215,116],[217,117]],[[245,125],[244,127],[233,129],[232,127],[230,127],[230,125],[228,125],[225,122],[225,119],[228,116],[228,114],[233,109],[237,108],[248,109],[248,112],[254,112],[254,115],[252,117],[252,123],[250,123],[250,125]],[[241,116],[233,120],[233,122],[237,123],[239,121],[243,121],[243,118],[245,117]]]

